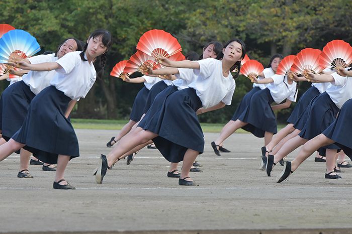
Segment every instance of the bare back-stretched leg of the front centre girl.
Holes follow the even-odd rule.
[[[137,129],[141,129],[137,127]],[[108,154],[108,166],[111,167],[120,157],[126,155],[136,146],[145,144],[155,138],[157,134],[142,130],[137,133],[129,133],[116,143],[116,147]]]

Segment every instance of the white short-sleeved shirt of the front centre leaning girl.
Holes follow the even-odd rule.
[[[227,77],[222,75],[222,62],[213,58],[200,61],[200,69],[194,69],[195,79],[189,84],[190,88],[196,90],[204,108],[212,107],[220,101],[230,105],[236,83],[231,72]],[[183,77],[180,76],[182,79]]]

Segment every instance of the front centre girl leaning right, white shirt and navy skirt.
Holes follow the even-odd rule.
[[[204,136],[196,111],[202,108],[201,111],[206,112],[231,104],[235,81],[230,71],[240,67],[245,45],[240,40],[231,40],[222,52],[222,60],[208,58],[171,62],[161,58],[164,66],[193,69],[195,81],[189,84],[189,88],[169,95],[161,106],[160,115],[150,118],[143,131],[122,138],[108,158],[102,155],[96,174],[97,183],[102,183],[107,168],[120,157],[152,139],[168,161],[184,161],[179,185],[193,185],[193,180],[189,177],[190,168],[198,154],[204,150]],[[149,72],[156,75],[170,74],[168,68],[154,71],[149,69]]]

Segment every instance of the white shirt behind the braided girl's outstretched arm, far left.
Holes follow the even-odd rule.
[[[55,54],[38,55],[28,59],[32,64],[55,62],[57,57]],[[56,74],[55,70],[52,71],[30,71],[23,76],[25,82],[31,91],[37,95],[44,88],[50,86],[50,81]]]

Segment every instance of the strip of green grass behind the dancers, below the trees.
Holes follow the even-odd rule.
[[[87,120],[87,119],[71,119],[73,128],[75,129],[104,129],[104,130],[121,130],[127,124],[127,120]],[[225,124],[209,124],[201,123],[202,129],[206,133],[219,133]],[[278,130],[284,125],[278,125]],[[248,133],[242,129],[236,133]]]

